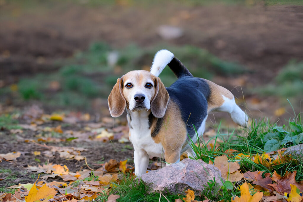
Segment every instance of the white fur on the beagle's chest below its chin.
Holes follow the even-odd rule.
[[[161,143],[155,143],[151,137],[151,130],[148,129],[149,111],[130,112],[127,117],[129,123],[129,140],[132,142],[135,150],[144,150],[149,157],[164,157],[164,149]]]

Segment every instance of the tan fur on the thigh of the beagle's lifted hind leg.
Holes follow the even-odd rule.
[[[219,86],[215,84],[214,82],[208,81],[206,79],[203,79],[207,82],[209,89],[210,89],[210,95],[207,100],[208,108],[207,112],[209,113],[212,110],[215,110],[216,108],[219,108],[222,106],[222,104],[225,102],[222,95],[226,98],[232,100],[234,98],[234,95],[228,91],[226,88]]]

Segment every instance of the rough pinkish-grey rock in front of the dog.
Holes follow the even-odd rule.
[[[149,184],[153,191],[180,194],[190,189],[198,194],[205,189],[204,185],[207,185],[207,182],[213,180],[214,177],[221,186],[221,172],[218,168],[202,160],[186,158],[177,164],[143,174],[142,180]]]

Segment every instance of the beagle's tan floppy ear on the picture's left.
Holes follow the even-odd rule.
[[[118,78],[117,83],[114,85],[111,94],[108,96],[108,108],[112,117],[118,117],[123,114],[126,101],[122,93],[123,79]]]

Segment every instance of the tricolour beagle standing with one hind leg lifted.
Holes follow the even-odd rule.
[[[165,88],[158,77],[165,66],[178,78]],[[187,151],[194,156],[189,138],[197,141],[211,111],[225,111],[235,123],[246,127],[248,116],[235,103],[230,91],[203,78],[195,78],[168,50],[158,51],[151,71],[130,71],[118,78],[108,97],[112,117],[125,108],[129,139],[134,146],[135,175],[146,173],[151,157],[178,163]]]

